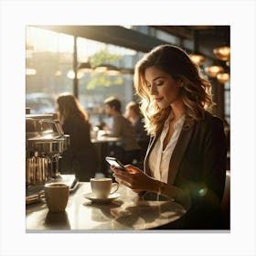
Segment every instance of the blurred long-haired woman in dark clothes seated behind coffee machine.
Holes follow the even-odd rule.
[[[69,134],[70,144],[59,159],[61,174],[75,173],[80,181],[89,181],[98,167],[98,154],[91,143],[87,112],[72,94],[62,94],[57,98],[56,109],[63,132]]]

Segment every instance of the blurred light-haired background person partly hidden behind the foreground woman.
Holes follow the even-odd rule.
[[[132,124],[136,133],[136,140],[141,147],[141,160],[144,159],[144,155],[149,143],[149,136],[146,133],[143,122],[143,115],[140,111],[139,104],[135,101],[130,101],[125,107],[124,115]]]

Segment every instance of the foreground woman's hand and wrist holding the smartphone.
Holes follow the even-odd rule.
[[[151,177],[144,174],[139,168],[133,165],[125,165],[126,172],[115,168],[113,165],[111,169],[113,171],[113,176],[116,180],[126,187],[130,187],[133,192],[139,193],[140,191],[153,191],[157,192],[157,181]]]

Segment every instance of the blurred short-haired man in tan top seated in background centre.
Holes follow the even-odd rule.
[[[136,142],[136,134],[132,123],[121,113],[121,101],[110,97],[104,101],[105,112],[112,117],[112,128],[109,136],[121,137],[121,145],[113,145],[111,155],[117,157],[123,164],[131,164],[138,160],[140,146]]]

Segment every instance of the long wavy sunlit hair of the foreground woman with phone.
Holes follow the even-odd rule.
[[[140,106],[144,114],[144,127],[148,134],[155,136],[159,133],[171,111],[171,107],[160,109],[146,86],[145,69],[153,66],[170,74],[174,80],[183,84],[180,87],[180,96],[186,108],[186,128],[202,120],[206,110],[211,111],[213,105],[211,85],[201,74],[198,66],[181,48],[160,45],[137,62],[134,72],[134,86],[136,93],[141,97]]]

